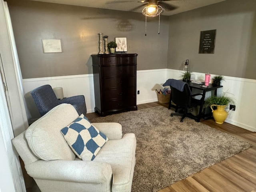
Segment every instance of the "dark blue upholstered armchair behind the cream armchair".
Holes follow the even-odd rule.
[[[36,103],[36,106],[41,116],[43,116],[52,108],[62,103],[69,103],[72,106],[74,106],[79,115],[85,115],[87,112],[85,99],[83,95],[72,96],[59,100],[57,99],[50,85],[43,85],[38,88],[35,88],[31,91],[31,95]]]

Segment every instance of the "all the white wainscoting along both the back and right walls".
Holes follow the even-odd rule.
[[[140,91],[140,94],[137,94],[137,104],[156,102],[155,90],[163,89],[162,84],[169,78],[180,79],[181,74],[182,71],[171,69],[137,71],[137,91]],[[204,78],[202,73],[193,72],[193,74],[196,78]],[[211,74],[211,77],[213,76],[214,74]],[[218,89],[218,92],[229,92],[230,96],[236,99],[236,111],[229,112],[226,122],[256,132],[256,80],[229,76],[224,78],[223,88]],[[94,112],[93,74],[23,79],[24,92],[27,96],[30,95],[31,90],[45,84],[50,84],[52,88],[62,87],[64,97],[84,95],[87,112]],[[209,95],[210,93],[206,94],[206,97]],[[31,100],[27,100],[27,105],[31,108],[33,104],[29,102]],[[36,113],[32,110],[30,113],[30,119],[40,117],[38,111]]]

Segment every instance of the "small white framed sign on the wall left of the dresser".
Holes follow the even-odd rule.
[[[42,39],[44,53],[61,53],[60,39]]]

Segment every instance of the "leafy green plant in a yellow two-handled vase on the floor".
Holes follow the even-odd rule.
[[[216,123],[222,124],[228,117],[228,112],[226,112],[226,107],[228,104],[235,104],[235,100],[229,96],[227,93],[218,94],[217,96],[212,95],[206,99],[207,106],[212,109],[212,116]],[[217,109],[212,107],[216,106]]]

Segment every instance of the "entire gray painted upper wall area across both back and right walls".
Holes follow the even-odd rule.
[[[138,70],[182,69],[256,79],[256,0],[226,0],[158,18],[140,13],[7,0],[23,78],[91,74],[98,33],[127,37]],[[200,31],[216,29],[214,54],[198,54]],[[43,53],[43,38],[60,38],[62,53]],[[104,50],[104,48],[103,48]]]

